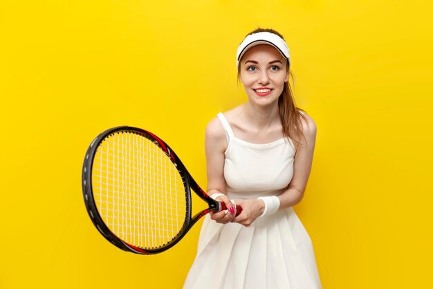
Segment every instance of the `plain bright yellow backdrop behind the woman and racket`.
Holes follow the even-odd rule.
[[[286,38],[317,124],[295,211],[324,288],[432,288],[431,8],[2,0],[0,288],[181,288],[201,222],[163,254],[114,247],[84,208],[84,152],[107,128],[145,128],[205,188],[205,125],[246,100],[235,52],[257,26]]]

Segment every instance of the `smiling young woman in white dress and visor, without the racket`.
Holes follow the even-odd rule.
[[[292,208],[310,175],[316,127],[295,106],[290,64],[275,30],[254,30],[239,45],[248,101],[219,113],[205,132],[208,194],[230,209],[205,217],[185,289],[322,288],[311,239]]]

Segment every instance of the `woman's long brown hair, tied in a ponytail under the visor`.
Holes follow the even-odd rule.
[[[284,40],[283,35],[278,33],[276,30],[269,29],[269,28],[257,28],[250,33],[246,35],[251,35],[253,33],[259,33],[259,32],[269,32],[278,35],[279,37],[282,37]],[[239,66],[240,67],[240,66]],[[240,69],[237,68],[237,76],[239,80],[239,73]],[[294,78],[293,72],[290,70],[290,64],[287,62],[287,71],[289,73],[289,77],[291,76],[292,79]],[[295,85],[295,82],[293,82],[293,85]],[[302,122],[301,118],[307,121],[306,116],[302,114],[305,113],[304,110],[302,110],[300,107],[296,106],[295,98],[293,97],[293,92],[291,89],[291,86],[289,82],[284,82],[284,88],[282,91],[282,94],[278,98],[278,107],[279,107],[279,118],[281,119],[281,123],[283,125],[283,135],[284,137],[288,137],[289,139],[292,139],[295,143],[296,151],[298,150],[300,146],[300,141],[298,141],[298,137],[304,137],[304,133],[302,132]],[[305,139],[306,141],[306,139]]]

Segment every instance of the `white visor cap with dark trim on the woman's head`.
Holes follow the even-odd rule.
[[[279,51],[279,53],[281,53],[284,58],[288,60],[288,63],[290,65],[290,51],[288,50],[288,46],[286,42],[282,39],[282,37],[279,37],[278,35],[270,32],[258,32],[245,37],[241,45],[239,45],[239,47],[237,48],[237,69],[239,68],[239,60],[241,60],[243,54],[245,54],[246,51],[252,46],[256,46],[259,44],[268,44],[274,46]]]

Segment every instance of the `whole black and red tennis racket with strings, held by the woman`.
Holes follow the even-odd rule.
[[[113,245],[156,254],[176,245],[206,213],[227,209],[210,198],[167,143],[140,128],[102,132],[89,146],[82,189],[93,225]],[[191,189],[208,203],[192,215]],[[237,215],[242,208],[237,207]]]

